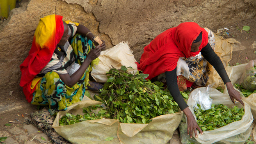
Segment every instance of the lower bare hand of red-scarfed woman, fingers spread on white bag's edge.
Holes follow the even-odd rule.
[[[192,138],[192,134],[194,131],[195,137],[197,137],[197,130],[199,130],[199,132],[203,135],[203,131],[198,126],[197,121],[195,120],[190,109],[187,107],[183,110],[183,112],[187,117],[187,135],[190,134],[190,137]]]

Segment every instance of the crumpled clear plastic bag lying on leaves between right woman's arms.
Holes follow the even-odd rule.
[[[209,88],[211,85],[208,85],[207,87],[203,87],[199,91],[197,91],[197,94],[192,95],[192,99],[194,100],[194,107],[199,108],[197,104],[201,105],[202,110],[209,110],[211,108],[211,105],[213,103],[213,99],[210,98],[209,95]]]

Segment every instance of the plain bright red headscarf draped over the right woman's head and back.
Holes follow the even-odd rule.
[[[202,43],[198,52],[190,52],[192,42],[202,32]],[[151,80],[165,71],[176,68],[179,57],[192,57],[208,43],[208,33],[197,23],[181,23],[159,34],[148,46],[145,46],[138,69],[149,74]]]

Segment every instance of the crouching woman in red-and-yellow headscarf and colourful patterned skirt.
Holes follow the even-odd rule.
[[[97,64],[105,41],[95,41],[90,30],[62,16],[41,18],[28,57],[21,64],[21,82],[28,102],[49,105],[50,114],[81,101],[89,83],[91,66]],[[80,68],[72,75],[73,64]]]

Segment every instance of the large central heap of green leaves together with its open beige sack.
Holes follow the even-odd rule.
[[[78,123],[59,126],[60,118],[67,112],[74,116],[83,115],[82,111],[85,107],[100,103],[90,99],[81,101],[68,107],[65,112],[61,111],[57,114],[53,123],[56,132],[72,143],[166,144],[181,121],[183,115],[181,110],[177,108],[172,97],[169,97],[169,92],[163,91],[156,85],[161,86],[161,83],[151,83],[144,79],[147,75],[139,73],[133,75],[126,73],[125,67],[122,69],[122,73],[125,73],[122,76],[110,71],[113,72],[113,75],[108,78],[108,82],[101,92],[105,92],[105,94],[95,96],[96,100],[102,101],[107,107],[107,109],[101,107],[99,111],[102,114],[102,119],[82,122],[76,119],[75,121]],[[133,79],[128,80],[130,77]],[[131,89],[126,85],[130,85]],[[118,98],[120,101],[117,101]],[[120,109],[117,109],[118,107]],[[111,117],[115,119],[103,119],[103,117],[110,117],[107,114],[112,115]],[[67,115],[69,116],[69,114]],[[127,123],[122,123],[122,121]]]

